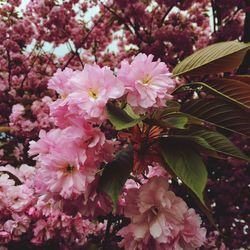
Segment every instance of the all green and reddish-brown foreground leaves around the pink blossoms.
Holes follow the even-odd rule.
[[[240,65],[249,47],[250,43],[235,41],[208,46],[179,63],[174,74],[196,76],[232,71]],[[161,128],[162,134],[156,143],[160,146],[164,166],[182,181],[202,211],[213,221],[204,198],[208,174],[201,153],[250,162],[247,155],[216,131],[223,128],[250,137],[250,77],[241,75],[192,82],[178,87],[173,95],[186,91],[197,92],[198,98],[180,103],[168,101],[166,107],[141,117],[129,105],[121,108],[108,103],[107,114],[116,130],[127,130],[143,123]],[[206,95],[201,97],[200,92]],[[133,152],[129,149],[120,152],[103,171],[100,190],[110,196],[114,207],[132,165]]]

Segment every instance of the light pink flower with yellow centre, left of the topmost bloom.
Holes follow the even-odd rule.
[[[75,86],[69,95],[70,104],[76,104],[80,115],[86,119],[105,118],[105,105],[109,99],[117,99],[124,93],[124,86],[108,67],[85,65],[84,70],[71,80]]]

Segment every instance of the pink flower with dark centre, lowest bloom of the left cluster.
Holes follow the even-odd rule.
[[[94,180],[96,169],[86,166],[85,150],[68,144],[58,152],[42,157],[36,184],[63,198],[75,198]]]

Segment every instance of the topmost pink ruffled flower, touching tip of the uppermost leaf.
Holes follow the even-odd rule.
[[[118,78],[125,83],[127,102],[140,109],[164,106],[171,99],[174,81],[165,63],[153,62],[153,55],[138,54],[131,64],[123,61]]]

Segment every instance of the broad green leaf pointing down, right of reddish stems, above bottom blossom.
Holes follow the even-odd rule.
[[[174,176],[195,194],[206,206],[203,192],[207,183],[207,170],[201,156],[188,142],[164,138],[160,142],[161,155]]]

